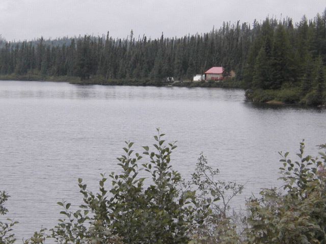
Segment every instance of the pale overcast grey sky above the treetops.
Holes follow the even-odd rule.
[[[220,28],[223,21],[253,23],[267,16],[294,22],[326,8],[325,0],[0,0],[0,34],[8,41],[102,35],[181,37]]]

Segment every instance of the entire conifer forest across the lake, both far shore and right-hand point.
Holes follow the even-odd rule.
[[[235,79],[182,86],[250,88],[255,101],[322,104],[325,100],[326,11],[314,19],[266,18],[252,25],[223,23],[219,30],[181,38],[125,39],[85,35],[7,42],[0,39],[2,79],[51,79],[107,85],[163,85],[191,80],[212,66]],[[66,76],[66,78],[62,77]],[[69,77],[69,78],[67,78]],[[70,77],[78,77],[71,79]],[[180,84],[179,84],[180,85]]]

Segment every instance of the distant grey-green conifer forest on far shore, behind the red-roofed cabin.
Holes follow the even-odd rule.
[[[225,23],[219,30],[203,35],[181,38],[135,39],[133,32],[126,39],[106,36],[54,40],[6,42],[0,50],[1,74],[43,74],[78,76],[87,80],[94,76],[106,79],[149,78],[160,80],[173,76],[192,78],[214,65],[227,66],[240,58],[238,42],[242,30],[249,32],[246,23]],[[241,40],[240,40],[241,39]],[[247,52],[240,47],[241,52]],[[242,50],[243,49],[243,50]],[[230,57],[232,55],[232,57]]]

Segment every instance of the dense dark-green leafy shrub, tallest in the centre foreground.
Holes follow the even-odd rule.
[[[233,186],[229,183],[223,185],[221,192],[214,194],[215,199],[208,200],[211,192],[205,192],[207,198],[202,201],[192,186],[197,185],[201,189],[198,183],[204,182],[205,176],[197,171],[197,180],[185,184],[181,175],[170,165],[171,153],[176,146],[166,144],[162,137],[164,134],[158,131],[154,137],[155,151],[143,147],[143,156],[147,156],[149,161],[141,166],[149,173],[152,182],[148,187],[143,184],[145,178],[138,177],[139,160],[143,156],[133,152],[133,143],[126,142],[127,146],[123,148],[125,155],[118,158],[122,171],[120,174],[110,174],[112,188],[109,191],[105,189],[107,178],[102,175],[99,193],[93,194],[79,179],[85,204],[77,211],[70,212],[70,203],[59,202],[63,207],[61,213],[67,218],[59,220],[59,224],[51,230],[51,237],[59,243],[113,243],[113,240],[124,243],[187,243],[192,236],[200,233],[208,215],[216,213],[210,210],[210,204],[221,199],[223,187]],[[179,188],[182,182],[188,186],[187,189]],[[111,193],[111,198],[107,192]],[[223,206],[221,209],[225,217],[227,206]]]

